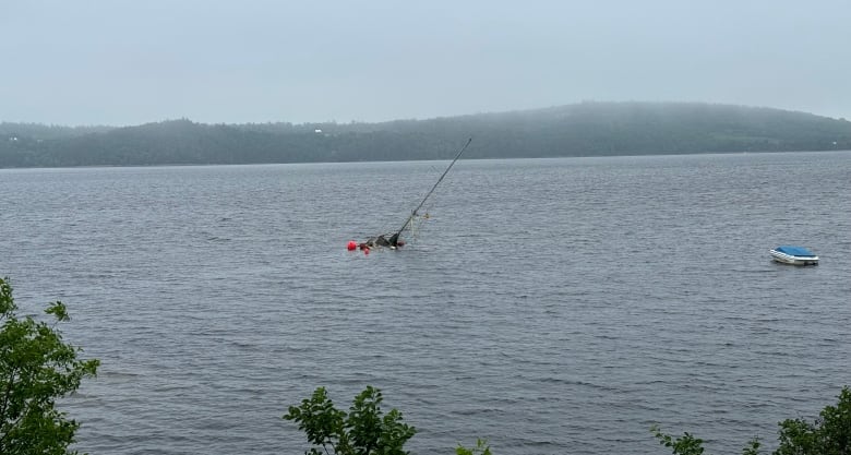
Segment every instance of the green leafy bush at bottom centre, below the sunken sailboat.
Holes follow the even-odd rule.
[[[334,406],[325,387],[319,387],[301,406],[290,406],[284,419],[304,431],[314,445],[305,452],[309,455],[322,454],[319,447],[337,455],[405,455],[403,446],[417,430],[404,423],[396,409],[383,415],[383,399],[381,391],[367,386],[345,412]]]

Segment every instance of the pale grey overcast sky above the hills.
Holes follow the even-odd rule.
[[[851,119],[851,1],[0,0],[0,121],[381,121],[583,100]]]

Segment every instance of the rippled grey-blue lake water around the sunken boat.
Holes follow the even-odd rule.
[[[851,153],[0,170],[0,275],[103,362],[91,454],[300,454],[317,386],[416,454],[741,453],[851,385]],[[817,267],[772,263],[802,244]]]

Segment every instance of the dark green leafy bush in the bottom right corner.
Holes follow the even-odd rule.
[[[827,406],[812,423],[803,419],[780,422],[776,455],[851,454],[851,388],[842,387],[836,406]]]

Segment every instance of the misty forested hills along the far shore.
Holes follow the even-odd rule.
[[[0,167],[137,166],[851,149],[851,122],[769,108],[582,103],[383,123],[68,128],[0,123]]]

